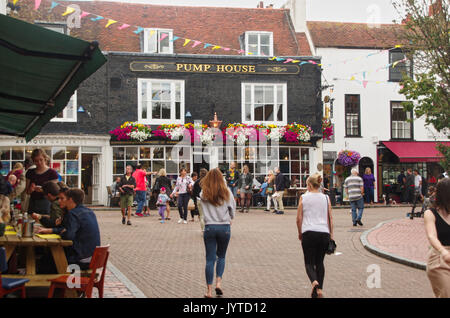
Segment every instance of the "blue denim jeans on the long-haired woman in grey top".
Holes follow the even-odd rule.
[[[231,228],[229,224],[209,224],[205,226],[203,240],[206,249],[205,276],[206,284],[212,285],[214,281],[214,265],[216,277],[222,278],[225,270],[225,254],[230,242]]]

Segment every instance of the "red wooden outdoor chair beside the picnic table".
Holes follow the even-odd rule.
[[[80,285],[78,287],[74,287],[74,290],[83,292],[87,298],[92,298],[92,290],[94,287],[98,289],[99,298],[103,298],[103,287],[105,283],[105,274],[106,274],[106,265],[108,263],[109,257],[109,245],[107,246],[97,246],[94,251],[94,255],[92,255],[91,263],[89,264],[89,268],[92,270],[92,273],[89,277],[80,277]],[[100,279],[96,279],[97,269],[102,269],[102,273]],[[53,298],[53,293],[56,288],[69,289],[67,286],[67,280],[70,278],[70,275],[63,275],[55,279],[50,279],[51,282],[50,290],[48,291],[48,298]],[[64,294],[63,294],[64,297]]]

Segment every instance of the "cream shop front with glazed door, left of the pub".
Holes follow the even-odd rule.
[[[86,204],[106,204],[106,169],[103,164],[109,151],[109,136],[39,135],[30,142],[23,138],[0,137],[2,174],[17,162],[23,163],[33,149],[41,148],[50,157],[49,166],[69,187],[81,188]]]

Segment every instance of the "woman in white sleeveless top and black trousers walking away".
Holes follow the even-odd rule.
[[[320,175],[316,173],[306,180],[308,192],[300,198],[297,209],[298,238],[302,242],[305,269],[311,281],[312,298],[323,297],[325,276],[323,260],[328,243],[333,239],[331,204],[328,196],[320,192],[319,177]]]

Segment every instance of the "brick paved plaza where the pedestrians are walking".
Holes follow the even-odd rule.
[[[360,242],[363,231],[383,221],[405,218],[408,210],[366,209],[364,226],[357,228],[351,224],[349,209],[334,210],[337,251],[342,254],[326,257],[326,297],[433,297],[425,271],[378,257]],[[132,226],[121,224],[117,210],[96,214],[102,244],[111,244],[110,261],[147,297],[203,296],[205,252],[198,221],[177,224],[178,213],[173,208],[172,220],[164,225],[155,211],[151,217],[133,218]],[[262,210],[237,213],[227,253],[225,296],[309,297],[295,217],[296,210],[287,210],[285,215]],[[371,264],[380,266],[381,288],[367,287]]]

